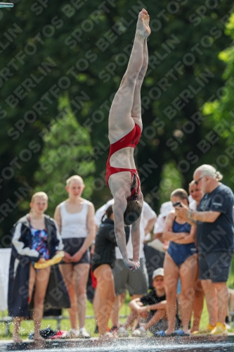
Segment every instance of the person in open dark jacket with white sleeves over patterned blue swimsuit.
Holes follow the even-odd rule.
[[[63,250],[56,222],[44,214],[47,200],[48,197],[44,192],[34,194],[30,203],[30,214],[18,220],[13,233],[8,281],[8,314],[14,317],[14,342],[22,341],[18,331],[22,320],[29,316],[29,303],[33,291],[34,340],[43,339],[40,327],[45,303],[53,308],[70,306],[59,270],[56,271],[56,267],[34,269],[34,263],[43,263],[44,260],[53,258],[57,251]],[[59,287],[55,287],[58,283]]]

